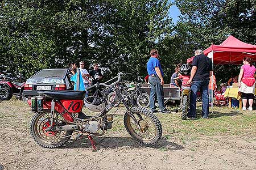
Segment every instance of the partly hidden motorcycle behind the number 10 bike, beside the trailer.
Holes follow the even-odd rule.
[[[125,82],[125,84],[127,86],[127,93],[135,104],[142,108],[149,107],[150,96],[142,92],[140,83]]]

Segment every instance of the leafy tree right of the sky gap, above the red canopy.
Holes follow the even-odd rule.
[[[253,0],[181,0],[176,5],[181,17],[176,24],[175,35],[183,39],[181,51],[190,53],[188,57],[192,57],[195,49],[220,44],[228,35],[256,44],[256,2]],[[187,50],[184,50],[185,46]],[[230,77],[230,73],[224,71],[229,67],[216,67],[221,82]],[[238,74],[239,66],[232,67],[235,67]]]

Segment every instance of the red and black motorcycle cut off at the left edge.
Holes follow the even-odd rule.
[[[25,83],[20,83],[14,80],[17,79],[10,73],[7,75],[0,75],[0,100],[10,100],[13,95],[18,99],[22,99]]]

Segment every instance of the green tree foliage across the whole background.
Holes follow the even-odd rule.
[[[148,53],[157,48],[169,83],[176,64],[196,49],[220,44],[228,35],[256,44],[256,1],[175,3],[181,16],[174,24],[168,0],[2,1],[0,69],[28,78],[40,69],[84,60],[87,69],[98,62],[106,79],[118,71],[135,78],[147,74]],[[229,67],[239,72],[234,66],[216,67],[217,78],[227,79],[228,71],[222,70]]]

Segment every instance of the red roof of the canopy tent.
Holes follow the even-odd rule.
[[[220,45],[210,45],[204,50],[204,54],[212,58],[214,65],[241,64],[243,57],[249,56],[256,60],[256,45],[247,44],[229,36]],[[192,63],[194,57],[188,58],[187,63]]]

